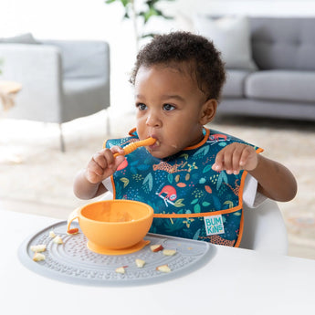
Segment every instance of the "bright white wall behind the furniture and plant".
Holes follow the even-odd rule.
[[[142,1],[142,0],[137,0]],[[120,4],[105,0],[0,0],[0,37],[31,32],[37,38],[100,39],[110,43],[112,105],[133,110],[128,83],[136,54],[131,21],[122,21]],[[315,16],[315,0],[177,0],[161,5],[170,15],[242,14],[249,16]],[[160,20],[161,21],[161,20]],[[159,22],[151,30],[174,30],[182,19]],[[182,24],[183,26],[183,24]],[[115,110],[116,111],[116,110]]]

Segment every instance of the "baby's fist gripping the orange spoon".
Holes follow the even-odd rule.
[[[113,154],[116,152],[119,152],[121,155],[114,158]],[[115,173],[117,167],[125,159],[123,154],[123,150],[118,146],[114,146],[110,149],[103,149],[100,152],[95,153],[90,159],[85,173],[89,183],[98,184]]]

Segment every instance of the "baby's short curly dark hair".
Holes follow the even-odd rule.
[[[154,37],[137,55],[131,84],[134,85],[141,66],[159,64],[177,65],[179,68],[181,65],[192,65],[198,88],[205,93],[207,100],[220,99],[226,81],[225,65],[221,53],[207,38],[182,31]]]

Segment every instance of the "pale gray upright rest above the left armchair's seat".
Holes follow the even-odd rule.
[[[65,79],[110,80],[110,46],[100,40],[42,40],[59,47]]]

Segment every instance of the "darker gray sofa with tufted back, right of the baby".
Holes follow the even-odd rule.
[[[250,17],[254,69],[227,68],[218,116],[315,121],[315,18]]]

